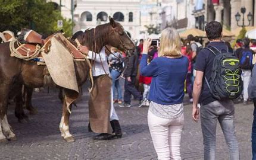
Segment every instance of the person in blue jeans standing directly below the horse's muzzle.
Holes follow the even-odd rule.
[[[108,62],[110,64],[110,75],[112,78],[112,90],[113,90],[113,97],[114,97],[114,103],[121,104],[122,103],[122,89],[119,84],[118,77],[121,75],[121,72],[123,70],[123,56],[120,52],[117,52],[117,48],[111,47],[110,56],[108,56]],[[117,89],[117,99],[115,99],[115,89]]]

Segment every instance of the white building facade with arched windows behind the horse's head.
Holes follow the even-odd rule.
[[[123,25],[132,38],[139,34],[140,0],[77,0],[74,31],[108,23],[109,15]]]

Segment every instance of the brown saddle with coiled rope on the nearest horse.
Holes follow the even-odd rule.
[[[68,49],[74,60],[85,60],[85,56],[79,52],[79,50],[77,50],[77,48],[70,43],[70,41],[63,36],[63,34],[56,33],[44,40],[42,39],[42,35],[33,30],[30,30],[24,35],[23,40],[25,43],[21,44],[18,40],[10,42],[11,56],[24,60],[32,60],[37,58],[42,59],[40,52],[48,52],[51,47],[51,37],[53,36]],[[17,48],[14,47],[15,43],[18,46]]]

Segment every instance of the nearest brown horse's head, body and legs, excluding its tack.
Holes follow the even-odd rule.
[[[130,50],[135,47],[132,40],[124,32],[121,24],[110,18],[110,23],[98,25],[96,28],[85,31],[77,39],[90,50],[98,52],[105,45],[117,47],[120,50]],[[15,134],[7,120],[8,96],[15,85],[27,87],[43,87],[43,79],[46,66],[39,66],[36,62],[17,59],[10,56],[9,43],[0,44],[0,142],[14,140]],[[88,79],[89,65],[86,61],[74,61],[77,84],[82,86]],[[15,87],[16,88],[16,87]],[[21,89],[19,88],[18,91]],[[64,94],[73,95],[73,92],[64,88]],[[67,142],[73,142],[74,138],[69,132],[69,116],[67,104],[63,103],[63,115],[60,122],[61,136]]]

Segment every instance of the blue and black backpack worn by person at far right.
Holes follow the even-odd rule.
[[[240,67],[242,69],[251,69],[252,68],[252,50],[243,49],[240,58]]]

